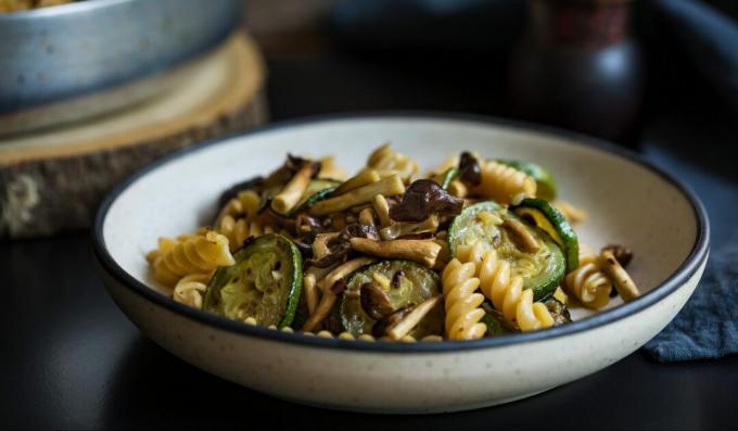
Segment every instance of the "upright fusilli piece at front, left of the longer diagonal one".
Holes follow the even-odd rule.
[[[443,296],[446,308],[446,337],[451,340],[479,339],[487,331],[484,310],[480,308],[484,295],[475,293],[480,280],[474,278],[473,263],[462,264],[454,258],[443,271]]]

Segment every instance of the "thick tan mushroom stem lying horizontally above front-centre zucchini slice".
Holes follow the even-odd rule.
[[[384,258],[405,258],[430,268],[441,252],[441,245],[428,240],[392,240],[376,242],[366,238],[352,238],[351,246],[357,252]]]

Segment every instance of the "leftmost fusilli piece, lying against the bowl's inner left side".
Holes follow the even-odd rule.
[[[233,265],[228,238],[207,231],[178,241],[153,263],[154,278],[162,284],[173,287],[190,274],[207,274],[218,266]]]

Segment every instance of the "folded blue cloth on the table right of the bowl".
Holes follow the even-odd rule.
[[[737,264],[738,245],[713,250],[692,297],[644,351],[662,363],[737,354]]]

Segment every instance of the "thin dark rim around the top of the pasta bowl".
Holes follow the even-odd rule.
[[[335,338],[328,339],[315,335],[313,337],[305,335],[298,332],[283,332],[280,330],[258,326],[250,326],[242,324],[240,321],[229,320],[225,317],[205,313],[200,309],[187,306],[184,304],[180,304],[178,302],[175,302],[170,297],[154,291],[147,284],[142,283],[135,277],[126,272],[123,268],[120,268],[120,266],[118,266],[118,264],[113,259],[113,257],[107,252],[105,240],[103,238],[103,225],[107,212],[113,202],[115,202],[118,195],[120,195],[120,193],[123,193],[130,185],[136,182],[139,178],[145,176],[147,174],[151,173],[157,167],[167,164],[174,160],[195,153],[205,148],[224,143],[234,137],[249,137],[265,131],[273,131],[294,126],[306,126],[311,124],[319,124],[340,119],[434,119],[434,118],[469,122],[486,126],[511,127],[530,131],[543,132],[555,137],[567,138],[580,144],[588,144],[607,153],[619,155],[625,160],[628,160],[633,163],[636,163],[648,168],[649,170],[658,174],[665,181],[676,187],[685,195],[687,201],[691,204],[692,211],[695,213],[695,219],[697,221],[697,238],[695,240],[692,250],[690,251],[685,262],[683,262],[682,265],[679,265],[679,267],[676,269],[676,271],[674,271],[674,274],[672,274],[671,277],[669,277],[661,284],[651,289],[649,292],[645,293],[642,296],[636,299],[633,302],[619,305],[614,308],[605,310],[602,313],[584,318],[582,320],[576,320],[568,325],[549,328],[543,331],[513,333],[494,338],[483,338],[471,341],[444,340],[441,342],[417,342],[417,343],[384,342],[384,341],[364,342],[364,341],[339,340]],[[188,149],[178,151],[174,154],[170,154],[168,156],[165,156],[149,164],[148,166],[145,166],[144,168],[137,172],[136,174],[127,178],[125,181],[119,183],[113,191],[111,191],[107,194],[107,197],[102,202],[96,216],[94,225],[92,227],[93,253],[99,265],[102,266],[105,272],[113,277],[116,281],[131,290],[133,293],[173,313],[176,313],[180,316],[187,317],[201,324],[213,326],[217,329],[249,337],[256,337],[266,340],[281,341],[316,347],[343,348],[378,353],[391,353],[391,352],[453,353],[456,351],[506,346],[517,343],[548,340],[601,327],[603,325],[636,314],[649,307],[650,305],[656,304],[662,299],[669,296],[671,293],[673,293],[679,287],[682,287],[692,275],[695,275],[695,272],[697,272],[700,265],[707,258],[709,238],[710,238],[710,224],[708,220],[707,212],[700,200],[697,198],[697,195],[688,187],[684,186],[682,182],[676,180],[670,174],[666,174],[661,168],[657,167],[650,162],[645,161],[642,157],[640,157],[639,155],[629,150],[618,147],[613,143],[603,141],[601,139],[593,138],[577,132],[552,128],[549,126],[542,126],[537,124],[530,124],[519,121],[509,121],[474,114],[424,112],[424,111],[389,111],[389,112],[368,112],[368,113],[328,114],[308,116],[260,126],[246,132],[232,134],[229,136],[209,140],[195,147],[190,147]]]

